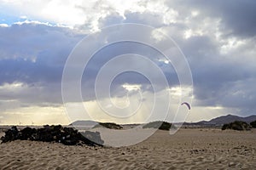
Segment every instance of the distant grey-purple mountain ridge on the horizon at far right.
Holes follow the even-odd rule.
[[[253,122],[256,120],[256,116],[247,116],[247,117],[241,117],[241,116],[234,116],[234,115],[227,115],[227,116],[219,116],[211,121],[201,121],[201,122],[196,122],[195,124],[197,125],[223,125],[226,123],[230,122],[235,122],[235,121],[242,121],[242,122]]]

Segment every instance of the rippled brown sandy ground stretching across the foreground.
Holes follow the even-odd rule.
[[[127,147],[0,144],[0,169],[256,169],[256,131],[157,131]]]

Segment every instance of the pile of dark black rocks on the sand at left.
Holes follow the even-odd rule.
[[[87,144],[91,146],[102,145],[100,133],[89,132],[79,133],[73,127],[61,127],[45,125],[42,128],[25,127],[20,131],[17,127],[11,127],[1,138],[2,143],[13,140],[34,140],[43,142],[57,142],[66,145]]]

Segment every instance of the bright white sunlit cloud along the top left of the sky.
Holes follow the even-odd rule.
[[[1,1],[0,1],[1,2]],[[155,16],[164,16],[166,24],[174,23],[177,11],[169,9],[164,1],[147,2],[135,1],[6,1],[2,0],[3,6],[22,19],[47,20],[56,25],[70,26],[79,29],[97,31],[99,21],[110,14],[117,13],[125,18],[125,13],[148,13]],[[152,16],[153,16],[152,15]],[[154,24],[154,23],[152,23]],[[86,27],[81,27],[86,25]]]

